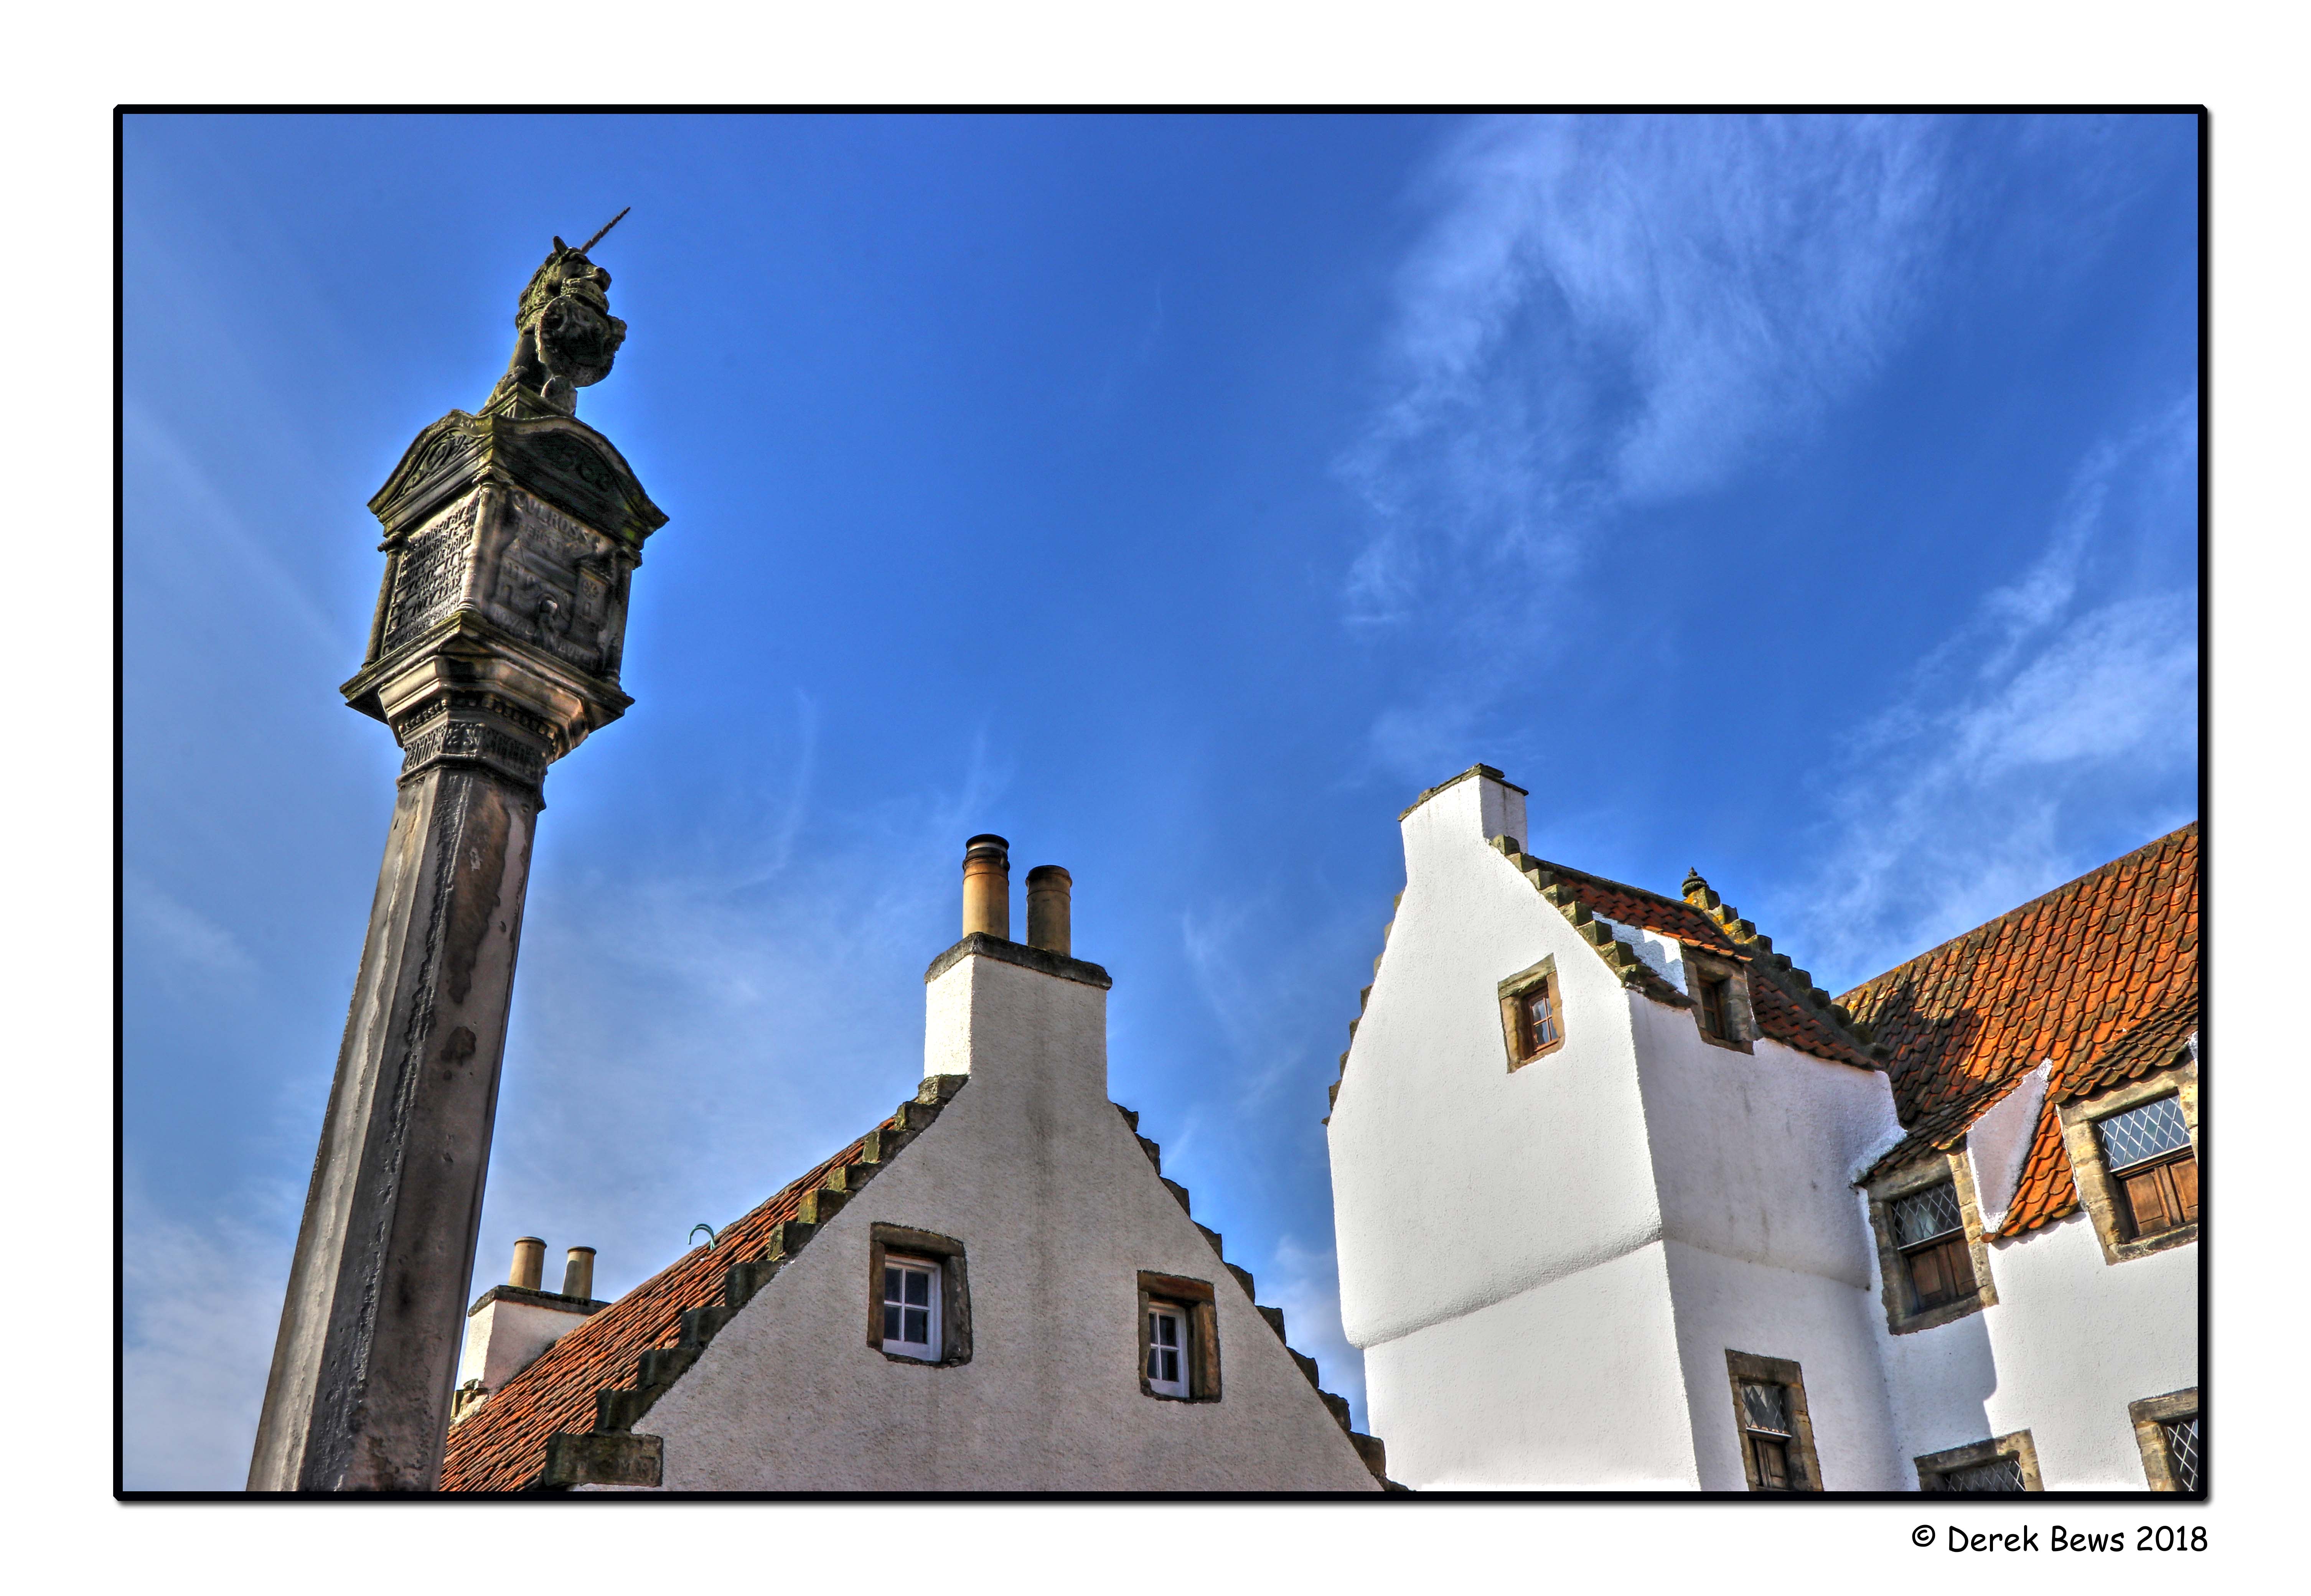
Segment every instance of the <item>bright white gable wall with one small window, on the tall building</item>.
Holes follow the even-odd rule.
[[[1632,998],[1486,843],[1521,827],[1481,774],[1405,815],[1329,1127],[1340,1317],[1391,1478],[1692,1485]],[[1541,956],[1565,1046],[1509,1072],[1498,982]]]

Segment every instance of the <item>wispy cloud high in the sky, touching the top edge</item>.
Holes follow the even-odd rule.
[[[1576,564],[1613,513],[1722,483],[1909,330],[1948,229],[1920,118],[1502,118],[1424,192],[1352,621]],[[1530,587],[1530,582],[1525,582]]]

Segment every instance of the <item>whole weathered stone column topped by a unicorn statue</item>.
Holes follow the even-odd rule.
[[[557,266],[587,282],[557,243],[532,321]],[[633,702],[626,589],[666,515],[566,390],[518,376],[421,432],[370,501],[386,580],[344,695],[404,760],[250,1490],[441,1471],[545,767]]]

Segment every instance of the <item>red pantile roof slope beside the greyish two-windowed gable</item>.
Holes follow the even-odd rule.
[[[897,1123],[892,1116],[876,1129],[887,1132]],[[529,1487],[545,1467],[545,1441],[562,1430],[592,1430],[594,1393],[636,1386],[642,1353],[679,1342],[686,1310],[721,1303],[730,1266],[760,1256],[772,1226],[795,1217],[804,1192],[860,1162],[869,1136],[874,1132],[728,1224],[712,1247],[693,1247],[617,1298],[499,1386],[478,1411],[451,1425],[441,1490]]]

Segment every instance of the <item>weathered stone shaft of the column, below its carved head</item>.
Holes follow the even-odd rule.
[[[481,1226],[538,790],[404,781],[250,1490],[432,1490]]]

